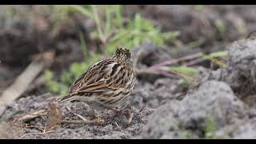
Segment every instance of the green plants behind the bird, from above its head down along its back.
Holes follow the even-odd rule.
[[[88,50],[86,41],[82,33],[79,33],[81,49],[84,55],[83,62],[70,64],[68,70],[62,72],[58,80],[53,79],[53,73],[46,70],[46,86],[55,94],[66,94],[68,87],[78,78],[92,63],[102,58],[102,54],[110,56],[114,54],[117,46],[132,48],[150,40],[158,45],[163,45],[166,40],[176,38],[178,32],[162,32],[161,27],[154,26],[140,14],[135,14],[134,18],[122,17],[122,6],[55,6],[66,18],[70,12],[78,12],[90,18],[95,23],[95,29],[90,32],[91,39],[100,42],[102,53],[95,53]]]

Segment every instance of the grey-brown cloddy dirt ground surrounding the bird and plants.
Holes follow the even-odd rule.
[[[30,9],[30,6],[15,8],[24,13]],[[47,116],[41,116],[27,121],[28,126],[10,126],[10,122],[47,107],[57,97],[41,85],[26,91],[22,98],[0,111],[0,138],[256,138],[256,40],[254,35],[246,38],[256,30],[255,6],[125,6],[126,17],[136,12],[163,30],[179,30],[181,34],[178,51],[172,42],[167,47],[145,43],[134,48],[133,53],[143,52],[139,67],[198,52],[228,50],[227,67],[213,68],[210,62],[199,62],[200,73],[196,84],[190,87],[183,86],[177,77],[140,76],[127,101],[134,110],[130,125],[125,114],[113,117],[113,111],[103,110],[96,111],[103,114],[105,122],[100,125],[62,123],[45,133],[28,127],[44,128]],[[10,20],[1,11],[0,14],[0,91],[14,82],[33,54],[55,50],[56,58],[50,69],[56,74],[70,62],[82,60],[75,33],[79,28],[88,34],[91,29],[88,22],[74,17],[77,21],[68,19],[59,26],[58,34],[51,34],[53,28],[44,15],[32,14],[41,18],[42,26],[38,26],[22,16]],[[202,45],[194,48],[187,45],[195,41]],[[95,43],[90,45],[94,47]],[[84,102],[57,106],[60,111],[51,118],[81,120],[76,115],[80,114],[93,119]]]

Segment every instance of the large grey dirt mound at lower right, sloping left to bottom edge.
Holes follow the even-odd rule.
[[[230,86],[203,82],[182,101],[170,101],[155,110],[142,138],[183,138],[184,134],[186,138],[203,138],[207,125],[218,130],[245,115],[245,106],[235,98]]]

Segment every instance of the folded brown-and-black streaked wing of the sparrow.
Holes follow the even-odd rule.
[[[113,59],[96,62],[70,87],[70,94],[117,90],[124,86],[126,70]]]

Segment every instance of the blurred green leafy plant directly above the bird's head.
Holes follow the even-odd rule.
[[[66,6],[65,6],[66,7]],[[177,31],[162,32],[161,27],[154,26],[140,14],[134,18],[122,17],[122,6],[68,6],[69,9],[90,18],[96,29],[90,34],[91,38],[101,42],[101,50],[105,54],[113,54],[116,46],[131,48],[150,40],[158,45],[178,36]]]

